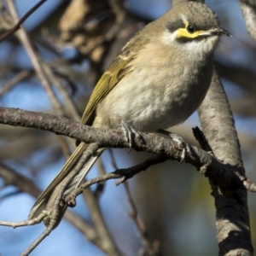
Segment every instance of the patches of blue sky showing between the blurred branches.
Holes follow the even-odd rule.
[[[25,22],[25,26],[28,30],[32,29],[33,26],[40,22],[40,20],[44,19],[44,15],[47,15],[49,9],[53,9],[61,0],[55,1],[47,1],[44,5],[34,13],[28,20]],[[17,7],[19,10],[20,15],[24,15],[28,9],[32,7],[35,3],[34,0],[26,0],[26,1],[16,1]],[[142,12],[145,15],[157,18],[159,15],[163,14],[169,7],[170,2],[167,0],[154,0],[148,4],[147,0],[131,0],[129,8],[135,12]],[[230,46],[231,44],[239,44],[236,37],[239,36],[241,33],[241,29],[244,29],[244,23],[242,21],[241,12],[239,10],[239,6],[234,3],[234,1],[226,0],[219,2],[218,4],[212,4],[212,1],[208,2],[209,5],[214,9],[217,13],[225,10],[226,15],[224,16],[221,23],[225,24],[226,28],[230,30],[230,32],[234,36],[234,40],[231,41],[230,38],[224,38],[222,41],[224,44]],[[216,3],[216,1],[214,2]],[[226,5],[225,5],[226,4]],[[230,8],[226,6],[229,5]],[[145,9],[145,6],[147,9]],[[232,19],[232,17],[236,15],[236,20]],[[239,28],[239,29],[237,29]],[[244,35],[247,35],[244,32]],[[0,45],[0,61],[8,58],[9,55],[9,44],[3,43]],[[244,58],[244,52],[232,52],[231,54],[225,53],[224,45],[220,45],[218,49],[218,54],[222,55],[223,58],[227,57],[233,61],[241,61],[247,64],[247,59]],[[24,54],[23,50],[20,49],[16,53],[16,60],[20,66],[31,67],[29,59]],[[0,100],[1,106],[4,107],[11,107],[11,108],[24,108],[27,110],[38,110],[43,111],[45,110],[45,106],[49,106],[49,100],[47,96],[44,94],[44,90],[39,86],[39,83],[36,84],[37,86],[27,86],[26,83],[20,83],[14,90],[11,90],[3,99]],[[1,86],[1,85],[0,85]],[[236,96],[239,97],[241,90],[235,89],[232,84],[224,80],[224,86],[228,93],[228,96]],[[21,95],[21,96],[20,96]],[[49,107],[48,107],[49,108]],[[193,114],[189,120],[186,121],[186,124],[190,126],[199,125],[197,114]],[[256,131],[254,129],[256,123],[255,119],[241,119],[240,117],[236,116],[236,127],[238,131],[251,133],[256,136]],[[1,129],[1,127],[0,127]],[[38,158],[47,157],[47,152],[44,152],[44,155],[37,153],[31,156],[31,163],[32,166],[37,165]],[[115,150],[115,157],[119,166],[131,166],[132,157],[127,157],[127,150],[118,151]],[[108,152],[103,154],[102,156],[103,161],[106,165],[106,170],[108,172],[113,171],[113,167],[109,164],[110,158]],[[47,184],[55,177],[55,173],[60,170],[62,164],[64,163],[64,159],[60,162],[52,164],[48,166],[48,169],[45,171],[47,175],[42,175],[39,177],[40,183],[38,186],[41,189],[44,189]],[[247,163],[246,163],[247,165]],[[15,168],[19,169],[20,172],[25,173],[26,169],[22,168],[21,166],[15,166]],[[166,168],[163,166],[161,168]],[[96,168],[94,168],[93,172],[90,172],[89,177],[96,176]],[[131,188],[136,186],[136,182],[131,182]],[[7,194],[9,191],[12,191],[14,188],[4,189],[3,194]],[[113,201],[114,199],[114,201]],[[82,199],[79,198],[78,201]],[[34,199],[30,195],[20,194],[14,197],[9,198],[8,200],[0,201],[1,209],[0,212],[0,219],[6,221],[19,221],[24,220],[27,218],[28,212],[32,207]],[[102,211],[107,216],[106,222],[112,226],[113,230],[118,230],[118,234],[122,234],[121,236],[117,237],[117,241],[121,245],[121,247],[125,247],[125,252],[128,255],[132,255],[134,251],[125,244],[126,240],[133,241],[133,246],[138,248],[139,244],[137,243],[137,234],[136,228],[131,222],[131,219],[128,218],[127,212],[129,210],[129,205],[127,203],[125,190],[123,186],[116,187],[113,181],[106,183],[105,192],[101,198],[101,206]],[[84,209],[84,205],[82,203],[78,204],[75,208],[75,211],[83,211],[84,218],[88,218],[88,212]],[[211,213],[212,218],[214,218],[214,212]],[[188,216],[189,215],[189,216]],[[183,219],[188,219],[189,221],[180,221],[177,222],[177,227],[175,230],[177,231],[175,234],[172,233],[172,230],[169,230],[169,236],[172,236],[174,241],[177,241],[177,247],[180,247],[181,254],[186,255],[188,253],[185,247],[183,247],[183,241],[189,241],[191,244],[195,245],[195,250],[199,250],[200,246],[196,247],[197,241],[200,241],[201,236],[200,234],[206,234],[206,226],[200,225],[202,218],[208,218],[208,215],[205,216],[195,208],[192,212],[189,212],[188,215],[184,215]],[[117,222],[116,220],[125,218],[124,222]],[[187,229],[187,226],[190,224],[190,230],[196,230],[197,236],[193,237],[193,233],[185,234],[184,230]],[[132,227],[132,228],[131,228]],[[214,228],[213,228],[214,229]],[[7,227],[0,227],[0,253],[5,255],[18,255],[22,251],[28,247],[31,242],[44,230],[44,225],[40,224],[34,227],[24,227],[20,229],[12,230]],[[130,231],[129,231],[130,230]],[[214,232],[214,231],[213,231]],[[15,241],[15,246],[14,246]],[[206,242],[205,247],[208,247],[208,243]],[[212,245],[211,245],[212,246]],[[216,245],[215,245],[216,246]],[[60,249],[61,248],[61,249]],[[75,248],[75,249],[74,249]],[[217,250],[217,247],[215,248]],[[61,250],[61,251],[60,251]],[[75,251],[74,251],[75,250]],[[46,238],[39,247],[32,253],[32,255],[96,255],[102,256],[104,255],[100,252],[96,247],[91,245],[90,242],[86,241],[83,236],[77,233],[73,227],[68,224],[66,221],[62,221],[60,227]]]

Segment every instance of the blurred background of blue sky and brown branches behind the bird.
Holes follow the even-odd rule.
[[[14,3],[21,17],[35,1]],[[233,35],[233,38],[221,39],[216,68],[236,120],[247,177],[255,181],[256,43],[247,34],[238,1],[207,0],[206,3],[217,13],[221,26]],[[22,36],[13,36],[0,44],[0,106],[79,120],[97,79],[119,49],[171,5],[170,0],[46,1],[24,23],[34,55],[27,53],[29,44]],[[0,1],[0,32],[15,24],[7,7],[5,1]],[[33,58],[47,74],[48,90],[47,83],[42,86],[38,79]],[[172,131],[196,145],[191,131],[195,125],[200,125],[197,113]],[[55,177],[73,146],[69,139],[50,132],[0,125],[1,220],[27,218],[38,189],[45,189]],[[96,165],[89,178],[104,171],[113,172],[113,159],[119,168],[124,168],[148,156],[134,151],[128,154],[126,149],[114,149],[112,156],[107,150],[102,154],[103,167]],[[14,176],[9,177],[5,171]],[[195,167],[166,161],[133,177],[129,187],[148,230],[148,240],[154,245],[159,243],[163,255],[218,255],[210,185]],[[100,189],[92,187],[92,191],[95,190]],[[143,244],[137,225],[129,216],[131,204],[124,185],[116,187],[114,181],[108,181],[99,194],[94,193],[113,241],[126,255],[137,255]],[[248,203],[255,247],[255,195],[248,195]],[[79,196],[78,205],[72,211],[93,227],[94,220],[83,196]],[[43,230],[44,224],[15,230],[0,227],[0,254],[19,255]],[[32,255],[60,253],[63,256],[105,255],[66,219]]]

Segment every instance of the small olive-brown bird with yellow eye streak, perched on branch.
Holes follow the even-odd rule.
[[[96,84],[81,122],[96,128],[157,132],[183,123],[207,94],[220,36],[230,36],[203,3],[178,3],[131,38]],[[86,149],[79,143],[61,172],[32,207],[37,217],[55,201],[59,185]],[[102,148],[85,163],[67,191],[77,188]],[[67,194],[66,191],[66,194]],[[66,207],[63,208],[58,223]],[[49,217],[44,218],[49,225]]]

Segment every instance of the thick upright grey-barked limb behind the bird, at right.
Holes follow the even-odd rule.
[[[201,104],[199,114],[201,126],[213,153],[225,165],[237,166],[230,172],[244,177],[234,119],[217,73],[213,74],[210,90]],[[237,190],[236,193],[226,196],[212,177],[210,183],[217,210],[219,255],[252,255],[247,192]]]

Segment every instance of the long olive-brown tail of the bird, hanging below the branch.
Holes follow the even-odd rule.
[[[78,148],[75,149],[73,154],[66,161],[65,165],[62,167],[61,171],[58,173],[55,179],[49,184],[49,186],[44,190],[44,192],[41,195],[39,195],[38,200],[35,202],[35,204],[32,207],[32,210],[29,213],[29,216],[28,216],[29,219],[38,217],[38,215],[44,209],[51,206],[51,204],[55,201],[55,197],[58,195],[59,189],[61,188],[61,182],[72,171],[73,167],[79,161],[81,154],[83,154],[86,148],[87,148],[87,144],[85,143],[79,144]],[[65,191],[66,192],[65,194],[79,187],[79,184],[83,181],[86,174],[90,171],[91,166],[93,166],[93,164],[96,162],[97,158],[102,153],[102,150],[99,150],[96,153],[96,155],[91,156],[90,160],[88,160],[84,164],[79,174],[76,177],[74,177],[73,181],[68,185],[67,191]],[[64,212],[66,211],[66,208],[67,207],[63,208],[63,211],[60,214],[60,220]],[[44,219],[44,224],[48,225],[49,220]]]

